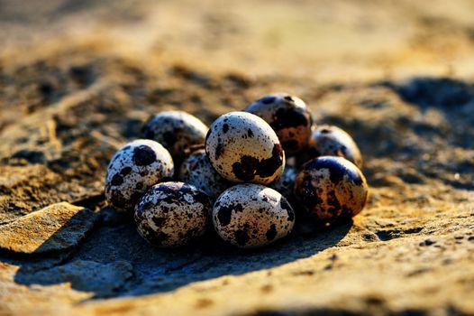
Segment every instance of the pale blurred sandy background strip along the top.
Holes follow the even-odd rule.
[[[248,75],[322,81],[469,77],[471,0],[1,0],[0,54],[77,45]]]

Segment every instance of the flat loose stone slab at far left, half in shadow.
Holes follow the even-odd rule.
[[[94,227],[96,215],[66,202],[34,211],[0,226],[0,249],[44,255],[77,247]]]

